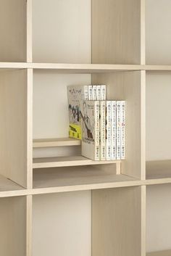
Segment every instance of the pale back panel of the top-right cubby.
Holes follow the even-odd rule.
[[[171,64],[170,0],[146,0],[146,63]]]

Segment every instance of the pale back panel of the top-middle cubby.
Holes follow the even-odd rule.
[[[33,61],[91,63],[91,0],[33,1]]]

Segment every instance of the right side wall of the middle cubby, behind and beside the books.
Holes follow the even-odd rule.
[[[141,155],[141,121],[144,120],[144,104],[141,102],[141,97],[144,98],[144,85],[141,85],[141,72],[93,74],[92,83],[107,84],[107,99],[126,101],[126,160],[122,162],[121,173],[141,178],[141,160],[144,158]]]

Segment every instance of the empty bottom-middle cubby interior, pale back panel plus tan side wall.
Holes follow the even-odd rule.
[[[33,256],[49,253],[141,255],[141,188],[33,196]]]

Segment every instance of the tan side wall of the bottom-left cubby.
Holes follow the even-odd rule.
[[[0,199],[0,255],[25,255],[25,216],[25,197]]]

